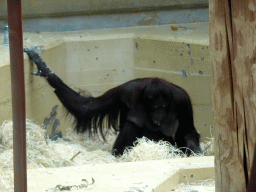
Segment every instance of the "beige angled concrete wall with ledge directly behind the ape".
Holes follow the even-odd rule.
[[[24,44],[42,49],[42,58],[67,85],[76,91],[88,90],[93,96],[140,77],[161,77],[183,87],[192,99],[195,126],[204,139],[211,136],[212,125],[208,24],[178,27],[177,31],[166,25],[90,33],[25,33]],[[0,45],[0,53],[1,124],[12,116],[8,47]],[[31,71],[36,67],[25,55],[27,118],[38,124],[50,121],[49,135],[55,129],[65,134],[72,126],[66,111],[47,82]]]

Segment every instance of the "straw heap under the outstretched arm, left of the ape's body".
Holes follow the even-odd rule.
[[[28,168],[66,167],[115,161],[115,158],[109,152],[111,150],[109,143],[104,144],[100,140],[90,141],[80,139],[79,136],[77,136],[77,139],[74,139],[75,136],[71,138],[74,140],[69,138],[71,141],[65,141],[63,139],[52,141],[45,138],[45,130],[40,126],[32,123],[30,120],[27,120],[26,124]],[[12,121],[5,121],[0,128],[1,168],[12,168],[13,166],[12,137]],[[71,160],[79,151],[81,153]]]

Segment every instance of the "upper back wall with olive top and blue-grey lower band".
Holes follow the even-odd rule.
[[[7,25],[0,1],[0,32]],[[208,22],[208,0],[26,0],[24,32],[63,32],[100,28]]]

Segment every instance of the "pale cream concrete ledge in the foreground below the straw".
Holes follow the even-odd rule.
[[[95,183],[89,186],[91,192],[169,192],[181,182],[187,183],[213,177],[214,158],[212,156],[95,164],[28,170],[28,191],[51,191],[50,189],[57,185],[80,185],[85,183],[82,179],[91,182],[93,178]]]

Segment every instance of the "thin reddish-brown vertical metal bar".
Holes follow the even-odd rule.
[[[21,0],[8,0],[12,80],[14,191],[27,191],[26,114]]]

